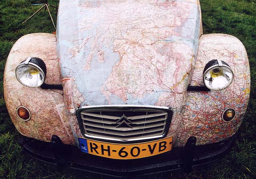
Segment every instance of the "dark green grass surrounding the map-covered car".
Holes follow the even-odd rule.
[[[22,24],[39,6],[36,0],[1,0],[0,2],[0,178],[5,179],[75,179],[86,175],[79,171],[58,172],[55,167],[22,153],[19,133],[12,124],[3,97],[4,65],[13,44],[21,36],[34,32],[54,32],[47,11],[41,11]],[[50,3],[55,4],[53,0]],[[251,95],[248,110],[235,145],[224,159],[194,170],[159,175],[158,178],[184,179],[253,179],[256,178],[256,1],[201,0],[204,34],[224,33],[239,38],[246,47],[251,69]],[[52,15],[56,21],[54,9]]]

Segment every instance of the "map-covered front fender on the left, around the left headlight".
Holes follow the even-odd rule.
[[[64,107],[62,90],[43,90],[22,86],[15,77],[15,68],[28,57],[44,60],[46,83],[61,84],[56,36],[36,33],[20,38],[12,47],[4,71],[4,98],[10,117],[18,131],[27,137],[51,141],[58,135],[64,143],[75,144]],[[23,121],[16,114],[19,106],[30,110],[31,119]]]

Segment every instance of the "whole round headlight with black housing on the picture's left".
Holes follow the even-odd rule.
[[[46,77],[46,65],[40,58],[29,57],[21,62],[15,70],[17,80],[30,88],[40,87]]]

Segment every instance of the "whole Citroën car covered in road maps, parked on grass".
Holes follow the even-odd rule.
[[[20,38],[4,72],[24,151],[114,177],[222,158],[249,95],[243,44],[203,34],[198,0],[61,0],[56,35]]]

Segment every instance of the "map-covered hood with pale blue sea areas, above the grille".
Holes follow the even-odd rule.
[[[77,106],[180,106],[199,30],[198,0],[61,0],[58,57],[63,81],[72,79],[64,94]]]

